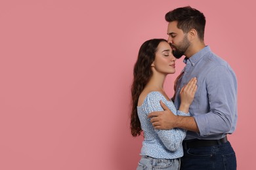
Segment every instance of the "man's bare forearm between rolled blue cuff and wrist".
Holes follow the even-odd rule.
[[[192,116],[177,116],[176,127],[186,129],[188,131],[199,132],[196,120]]]

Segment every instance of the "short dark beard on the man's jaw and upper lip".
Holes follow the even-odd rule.
[[[170,44],[170,46],[173,47],[173,56],[175,56],[175,58],[177,59],[181,58],[185,54],[186,50],[188,50],[188,47],[190,46],[190,42],[188,41],[186,35],[184,36],[180,44],[181,45],[179,47]]]

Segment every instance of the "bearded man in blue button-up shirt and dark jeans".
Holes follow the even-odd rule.
[[[236,155],[226,135],[233,133],[237,121],[237,82],[234,71],[205,46],[205,16],[191,7],[165,14],[167,35],[176,58],[186,56],[186,66],[175,83],[175,107],[181,103],[180,91],[192,77],[198,90],[189,112],[176,116],[161,103],[163,112],[149,116],[156,129],[186,129],[181,169],[236,169]]]

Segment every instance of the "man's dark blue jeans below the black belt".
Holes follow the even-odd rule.
[[[181,158],[181,170],[235,170],[236,154],[229,142],[215,146],[186,148]]]

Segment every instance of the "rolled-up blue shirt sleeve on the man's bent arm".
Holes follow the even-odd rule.
[[[236,77],[224,65],[209,71],[205,79],[209,112],[194,116],[201,136],[232,133],[236,116]]]

